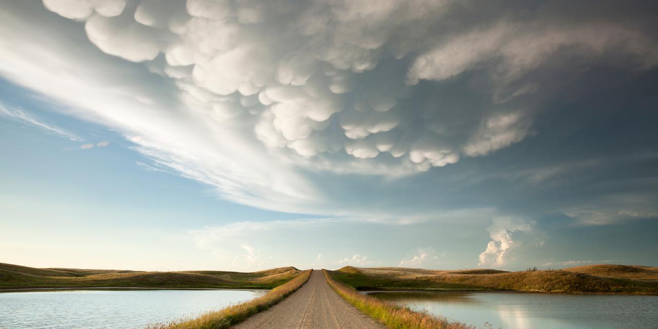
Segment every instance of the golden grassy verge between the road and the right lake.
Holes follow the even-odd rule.
[[[359,311],[372,316],[389,328],[397,329],[472,329],[461,322],[451,322],[443,317],[433,316],[428,313],[411,311],[408,307],[401,307],[380,301],[374,297],[363,295],[351,286],[347,286],[340,280],[334,280],[332,273],[322,270],[331,288],[333,288],[343,299],[354,305]],[[336,271],[332,271],[336,272]]]

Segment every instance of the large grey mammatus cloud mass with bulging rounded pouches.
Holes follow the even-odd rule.
[[[484,8],[453,1],[181,4],[45,2],[86,20],[105,53],[134,62],[162,53],[154,64],[188,105],[247,124],[272,152],[321,170],[410,174],[487,155],[527,136],[535,109],[515,100],[552,82],[520,83],[530,72],[572,57],[621,57],[637,69],[658,61],[655,39],[632,22],[555,22],[549,5],[474,20]],[[488,71],[482,89],[464,91],[480,97],[476,108],[446,109],[449,99],[417,86],[474,70]]]

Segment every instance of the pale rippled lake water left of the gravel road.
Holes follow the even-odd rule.
[[[143,328],[200,315],[267,290],[67,290],[0,293],[0,328]]]

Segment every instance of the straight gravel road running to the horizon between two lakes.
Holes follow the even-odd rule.
[[[321,270],[299,290],[265,312],[232,327],[238,329],[342,328],[384,329],[332,290]]]

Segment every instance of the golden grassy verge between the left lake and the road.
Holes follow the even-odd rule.
[[[251,315],[265,311],[288,297],[295,290],[299,289],[309,280],[313,270],[300,272],[292,280],[274,288],[263,297],[252,299],[245,303],[226,307],[220,311],[215,311],[201,315],[191,320],[183,320],[168,324],[156,324],[147,327],[148,329],[222,329],[228,328],[238,322],[245,320]]]

